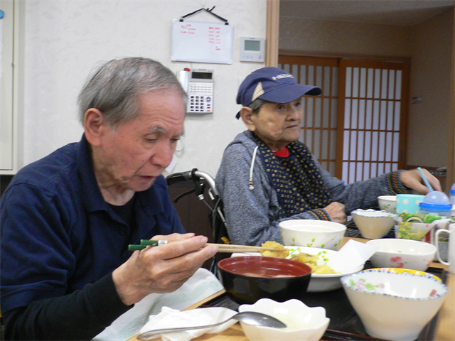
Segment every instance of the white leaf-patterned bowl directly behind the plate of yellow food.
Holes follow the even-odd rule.
[[[285,220],[279,223],[284,245],[338,250],[346,226],[323,220]]]

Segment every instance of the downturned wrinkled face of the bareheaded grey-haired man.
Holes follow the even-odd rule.
[[[185,107],[177,90],[139,95],[139,116],[102,140],[103,176],[122,190],[147,190],[172,161],[183,134]]]

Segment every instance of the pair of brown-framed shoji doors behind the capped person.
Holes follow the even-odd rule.
[[[323,89],[304,97],[300,141],[346,183],[405,166],[409,63],[279,55],[301,84]]]

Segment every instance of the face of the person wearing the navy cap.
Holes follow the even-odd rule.
[[[289,103],[264,102],[259,112],[251,115],[252,124],[248,127],[255,131],[272,151],[280,151],[287,144],[299,139],[303,116],[301,98]]]

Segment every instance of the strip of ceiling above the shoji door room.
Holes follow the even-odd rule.
[[[280,0],[280,18],[414,26],[454,6],[454,0]]]

